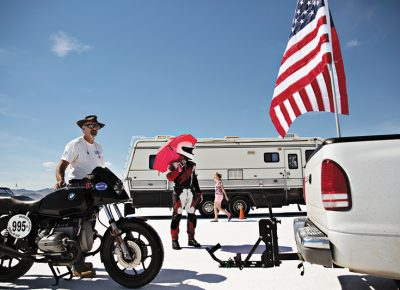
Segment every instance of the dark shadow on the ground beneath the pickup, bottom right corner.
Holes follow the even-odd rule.
[[[343,275],[338,277],[342,290],[397,290],[395,281],[370,275]]]

